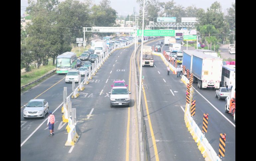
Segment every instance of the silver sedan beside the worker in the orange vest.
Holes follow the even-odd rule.
[[[24,119],[27,118],[45,118],[45,115],[49,113],[49,104],[44,99],[33,99],[28,102],[27,105],[24,105],[25,109],[23,110]]]

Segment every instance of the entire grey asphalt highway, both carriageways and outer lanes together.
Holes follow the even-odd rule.
[[[156,46],[157,41],[144,44]],[[163,50],[169,50],[168,46],[163,46]],[[76,108],[76,132],[79,135],[75,146],[64,146],[67,124],[62,122],[63,89],[67,87],[67,95],[72,92],[72,84],[65,83],[65,75],[51,76],[21,94],[21,160],[139,160],[133,65],[130,71],[133,51],[134,46],[131,46],[112,53],[90,83],[85,85],[85,90],[79,92],[80,96],[71,99],[72,108]],[[154,56],[154,67],[142,69],[145,90],[142,104],[150,160],[204,160],[184,121],[186,86],[172,72],[167,75],[166,69],[159,56]],[[108,92],[115,80],[125,80],[128,84],[132,92],[131,107],[110,108]],[[195,122],[201,128],[203,113],[208,113],[206,138],[218,153],[219,134],[226,133],[226,156],[223,160],[235,160],[235,123],[232,124],[231,115],[224,113],[225,101],[215,98],[215,90],[194,87],[198,91],[194,93]],[[48,114],[45,119],[23,118],[22,106],[34,98],[49,102],[50,111],[56,117],[54,136],[49,136],[46,126]]]

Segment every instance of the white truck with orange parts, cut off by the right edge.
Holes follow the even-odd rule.
[[[226,90],[228,91],[228,86],[226,86]],[[229,95],[225,99],[225,113],[231,113],[233,116],[233,121],[235,122],[235,112],[236,112],[236,104],[235,104],[235,92],[236,86],[235,84],[231,85]]]

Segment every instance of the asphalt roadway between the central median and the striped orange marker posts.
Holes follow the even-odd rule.
[[[156,46],[156,42],[151,42],[148,45]],[[167,66],[159,56],[154,56],[154,65],[154,67],[142,67],[146,96],[143,96],[144,93],[142,94],[142,103],[150,159],[203,160],[184,121],[186,86],[174,75],[167,75]],[[145,98],[148,107],[146,107]],[[148,108],[149,115],[146,108]],[[150,126],[152,126],[152,131]],[[156,148],[153,146],[154,144]]]

